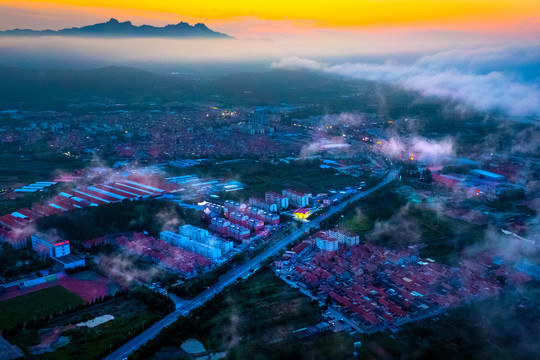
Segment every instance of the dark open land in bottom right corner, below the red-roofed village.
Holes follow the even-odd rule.
[[[361,359],[536,359],[540,353],[540,284],[364,335]]]

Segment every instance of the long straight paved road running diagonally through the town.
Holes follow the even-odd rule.
[[[144,345],[149,340],[155,338],[163,328],[174,323],[180,316],[188,315],[192,310],[198,308],[199,306],[201,306],[202,304],[204,304],[205,302],[207,302],[208,300],[216,296],[216,294],[220,293],[224,288],[233,284],[238,278],[249,276],[250,272],[252,270],[258,269],[265,260],[271,258],[272,256],[278,254],[282,250],[286,249],[290,244],[298,240],[309,230],[318,228],[321,221],[326,219],[328,216],[331,216],[335,213],[342,211],[350,203],[355,202],[379,190],[383,186],[393,181],[397,177],[398,173],[399,171],[396,169],[390,171],[390,173],[384,178],[384,180],[380,182],[379,184],[377,184],[377,186],[371,189],[368,189],[366,191],[358,192],[354,194],[347,201],[344,201],[337,205],[332,206],[330,210],[328,210],[326,213],[319,215],[317,218],[313,219],[312,221],[306,222],[302,227],[298,228],[297,230],[293,231],[291,234],[277,241],[275,244],[273,244],[271,247],[266,249],[264,252],[262,252],[258,256],[247,261],[245,264],[232,269],[231,271],[223,275],[217,283],[210,286],[208,289],[206,289],[205,291],[203,291],[202,293],[200,293],[193,299],[188,300],[182,305],[180,305],[172,313],[168,314],[167,316],[165,316],[164,318],[162,318],[161,320],[153,324],[151,327],[149,327],[148,329],[146,329],[139,335],[135,336],[126,344],[122,345],[113,353],[105,357],[104,360],[122,360],[122,359],[127,358],[129,354],[137,350],[139,347]]]

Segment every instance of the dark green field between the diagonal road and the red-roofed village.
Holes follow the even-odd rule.
[[[180,318],[134,358],[162,359],[160,349],[177,349],[190,338],[200,340],[211,352],[229,352],[231,358],[261,358],[267,355],[268,346],[289,341],[293,331],[322,320],[318,305],[264,268],[226,289],[189,318]],[[177,354],[182,355],[179,350]]]

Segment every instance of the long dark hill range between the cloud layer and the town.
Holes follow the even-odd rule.
[[[384,111],[393,118],[436,118],[448,105],[447,100],[425,98],[394,86],[346,81],[304,70],[187,80],[130,67],[35,70],[0,66],[0,79],[0,109],[69,109],[85,113],[118,106],[124,110],[148,110],[168,103],[218,101],[224,106],[307,104],[305,116],[316,106],[324,113]]]

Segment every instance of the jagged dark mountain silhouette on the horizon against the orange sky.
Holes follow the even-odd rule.
[[[111,19],[106,23],[73,27],[62,30],[14,29],[0,31],[0,36],[84,36],[84,37],[125,37],[125,38],[210,38],[232,39],[229,35],[210,30],[204,24],[189,25],[180,22],[176,25],[156,27],[151,25],[135,26],[131,21],[119,22]]]

